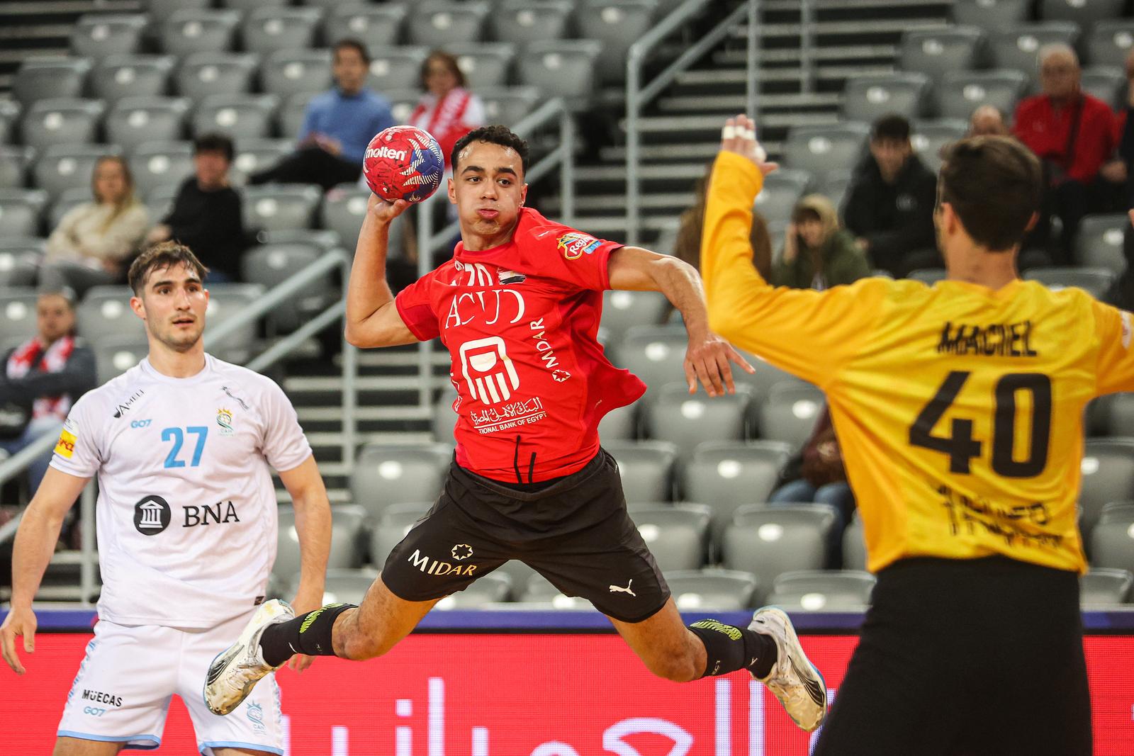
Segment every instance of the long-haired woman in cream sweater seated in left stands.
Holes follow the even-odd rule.
[[[137,252],[150,216],[134,196],[134,178],[126,161],[105,155],[91,177],[93,202],[73,207],[48,238],[40,286],[64,287],[77,296],[93,286],[126,280],[126,267]]]

